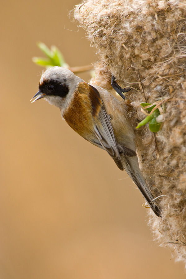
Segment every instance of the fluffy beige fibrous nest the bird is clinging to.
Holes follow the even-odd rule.
[[[160,131],[135,130],[140,168],[163,212],[149,213],[149,224],[162,246],[186,260],[186,2],[89,0],[75,7],[74,18],[99,55],[91,82],[109,91],[113,74],[133,88],[134,129],[146,117],[140,103],[160,110]]]

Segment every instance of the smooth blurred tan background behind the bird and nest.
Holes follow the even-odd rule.
[[[1,3],[0,278],[185,278],[153,242],[126,173],[57,108],[29,101],[42,73],[31,60],[42,56],[36,42],[55,44],[70,66],[97,59],[67,16],[77,3]]]

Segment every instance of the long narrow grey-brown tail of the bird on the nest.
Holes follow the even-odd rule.
[[[162,211],[157,206],[156,201],[154,200],[154,197],[144,179],[144,176],[139,169],[138,161],[136,160],[137,157],[123,157],[123,165],[124,169],[126,170],[127,174],[131,177],[131,179],[134,181],[136,186],[139,188],[139,191],[142,193],[143,197],[147,201],[148,205],[152,208],[154,213],[158,217],[162,217]]]

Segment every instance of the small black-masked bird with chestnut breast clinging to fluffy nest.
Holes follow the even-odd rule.
[[[125,99],[112,76],[111,85]],[[162,217],[162,211],[139,169],[135,133],[128,114],[128,105],[104,88],[85,82],[69,69],[55,66],[47,69],[39,81],[39,90],[31,99],[45,98],[60,109],[68,125],[91,144],[107,151],[120,170],[126,170],[150,208]]]

